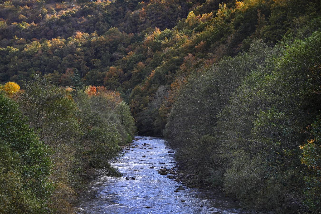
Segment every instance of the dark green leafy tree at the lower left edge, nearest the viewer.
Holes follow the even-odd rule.
[[[46,213],[51,185],[48,148],[0,93],[0,213]]]

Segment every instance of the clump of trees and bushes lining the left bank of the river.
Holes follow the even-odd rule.
[[[134,137],[129,107],[117,92],[72,80],[0,86],[0,213],[74,213],[90,178],[119,176],[110,163]]]

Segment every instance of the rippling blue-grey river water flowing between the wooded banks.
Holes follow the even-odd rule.
[[[176,164],[163,139],[136,136],[126,151],[114,164],[123,176],[92,181],[79,213],[242,213],[238,203],[221,194],[186,186],[174,192],[182,184],[157,171]]]

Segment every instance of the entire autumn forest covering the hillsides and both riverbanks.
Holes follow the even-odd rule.
[[[0,212],[73,212],[135,124],[247,209],[319,213],[320,7],[0,0]]]

